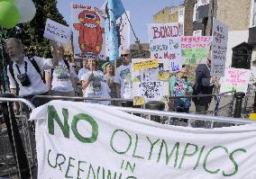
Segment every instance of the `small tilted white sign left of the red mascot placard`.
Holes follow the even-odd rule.
[[[59,43],[69,43],[71,32],[69,27],[47,19],[43,37],[50,40],[56,40]]]

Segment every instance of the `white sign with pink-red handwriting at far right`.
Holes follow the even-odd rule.
[[[251,71],[242,68],[226,68],[221,82],[221,93],[232,91],[247,92]]]

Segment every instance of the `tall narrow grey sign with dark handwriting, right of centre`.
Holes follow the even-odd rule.
[[[228,27],[214,18],[211,76],[224,76]]]

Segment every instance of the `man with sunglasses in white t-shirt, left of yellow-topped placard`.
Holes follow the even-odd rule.
[[[132,66],[129,50],[122,50],[121,58],[123,65],[116,68],[114,83],[118,98],[133,98]]]

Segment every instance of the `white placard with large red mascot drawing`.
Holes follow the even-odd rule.
[[[104,18],[96,7],[72,4],[74,58],[105,59]]]

